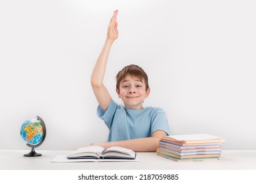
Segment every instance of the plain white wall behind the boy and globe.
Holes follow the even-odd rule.
[[[29,149],[20,126],[41,116],[39,149],[106,141],[90,76],[119,9],[105,84],[135,63],[144,105],[166,110],[174,135],[210,133],[224,149],[256,149],[255,1],[0,1],[0,149]],[[121,101],[117,101],[121,103]]]

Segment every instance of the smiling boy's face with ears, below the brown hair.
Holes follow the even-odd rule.
[[[122,99],[125,108],[136,110],[142,109],[142,103],[150,93],[150,88],[146,90],[143,80],[137,77],[127,75],[119,84],[119,90],[116,89],[119,98]]]

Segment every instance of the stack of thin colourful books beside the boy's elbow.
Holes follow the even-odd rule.
[[[207,134],[169,135],[161,138],[156,154],[174,161],[219,160],[223,142]]]

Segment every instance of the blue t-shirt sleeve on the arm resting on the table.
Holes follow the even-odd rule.
[[[154,131],[165,131],[167,135],[170,135],[169,124],[167,120],[166,113],[163,109],[158,108],[158,111],[155,113],[155,116],[151,124],[151,135]]]

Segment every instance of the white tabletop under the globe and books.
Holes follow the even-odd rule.
[[[256,170],[256,150],[223,150],[220,160],[176,162],[157,156],[156,153],[139,152],[139,162],[75,162],[51,163],[58,155],[68,155],[70,150],[36,150],[40,157],[24,157],[30,150],[0,150],[1,170]]]

